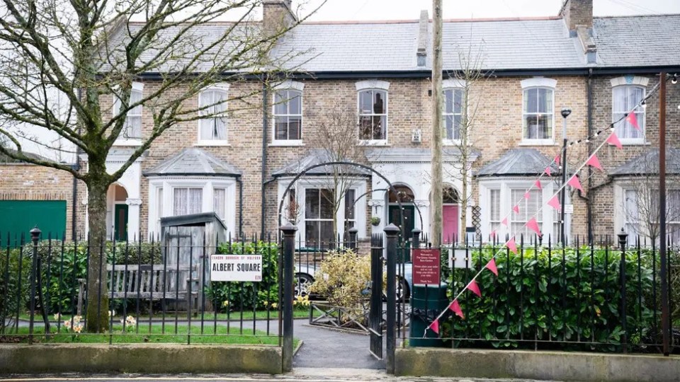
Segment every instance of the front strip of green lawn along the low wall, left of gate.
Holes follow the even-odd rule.
[[[212,325],[205,325],[203,334],[200,334],[200,325],[191,326],[191,335],[188,335],[188,325],[178,325],[175,331],[174,325],[154,324],[149,331],[149,325],[140,324],[139,334],[135,328],[128,328],[128,332],[123,334],[123,325],[113,325],[111,334],[89,334],[81,333],[74,335],[62,329],[60,333],[52,333],[49,338],[45,337],[45,328],[35,328],[33,342],[38,343],[114,343],[114,344],[134,344],[134,343],[177,343],[186,344],[191,337],[191,344],[231,344],[231,345],[278,345],[276,335],[266,335],[266,332],[252,329],[243,330],[241,334],[239,328],[229,328],[225,325],[217,325],[217,330],[213,330]],[[52,331],[56,328],[52,328]],[[19,328],[18,335],[6,335],[4,342],[28,342],[28,328]],[[300,340],[294,340],[294,346]]]

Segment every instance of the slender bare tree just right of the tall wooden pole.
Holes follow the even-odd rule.
[[[470,202],[469,178],[472,174],[472,159],[476,157],[475,128],[477,124],[477,110],[482,103],[483,92],[477,89],[480,81],[491,73],[485,71],[482,47],[475,50],[472,45],[467,48],[458,48],[458,63],[460,69],[453,72],[453,78],[457,79],[460,88],[453,89],[450,93],[452,100],[447,103],[444,112],[448,120],[445,121],[446,138],[455,147],[458,161],[451,163],[446,168],[448,175],[459,179],[462,185],[458,199],[460,201],[460,237],[465,234],[467,221],[467,204]],[[450,105],[451,109],[448,109]],[[453,197],[453,195],[445,195]]]

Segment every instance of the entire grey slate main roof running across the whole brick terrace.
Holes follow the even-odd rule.
[[[597,49],[595,67],[663,66],[680,64],[680,14],[617,16],[594,18],[594,42]],[[141,24],[132,23],[135,31]],[[178,45],[158,70],[179,66],[177,57],[191,57],[196,47],[208,46],[219,39],[229,23],[198,25],[188,35],[191,43]],[[234,30],[232,46],[220,47],[228,54],[244,40],[241,36],[259,33],[259,23],[246,23]],[[162,30],[160,40],[169,41],[179,27]],[[431,23],[428,24],[425,66],[418,66],[416,50],[419,20],[382,22],[302,23],[284,35],[272,54],[285,57],[290,69],[312,73],[360,71],[429,71],[431,70]],[[122,49],[127,30],[120,28],[111,45]],[[443,69],[460,69],[458,52],[475,55],[482,52],[485,70],[587,69],[588,64],[578,37],[570,37],[562,18],[516,18],[444,21]],[[186,46],[183,49],[182,46]],[[215,48],[217,49],[217,48]],[[140,61],[154,57],[148,50]],[[186,56],[185,56],[186,55]],[[196,70],[212,66],[205,61]],[[102,68],[106,69],[106,68]]]

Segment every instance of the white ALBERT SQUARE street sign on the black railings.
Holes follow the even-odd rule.
[[[211,255],[210,281],[261,282],[261,255]]]

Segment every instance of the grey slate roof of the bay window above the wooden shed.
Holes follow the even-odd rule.
[[[203,175],[240,176],[241,171],[215,158],[210,153],[196,148],[183,149],[158,166],[144,172],[145,176]]]

